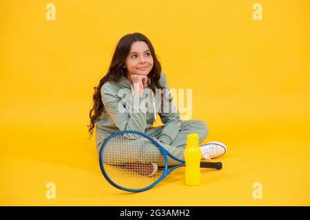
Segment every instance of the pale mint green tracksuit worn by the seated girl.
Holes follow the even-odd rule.
[[[147,94],[150,91],[149,83],[150,79],[148,78],[147,87],[143,89],[142,96],[132,95],[132,82],[125,76],[122,76],[118,83],[109,81],[103,85],[101,100],[105,108],[99,120],[96,121],[96,149],[98,153],[107,137],[124,130],[141,131],[149,136],[157,137],[163,142],[163,147],[169,153],[183,160],[189,133],[198,133],[199,143],[205,140],[209,133],[207,124],[200,120],[181,120],[174,104],[165,101],[165,99],[161,106],[160,100],[153,100],[152,94]],[[159,83],[169,91],[164,73],[161,74]],[[172,98],[169,92],[168,96]],[[134,99],[138,102],[134,102]],[[145,102],[152,104],[136,105],[136,103]],[[158,109],[162,110],[158,111]],[[169,111],[163,111],[163,109]],[[163,126],[152,127],[156,113],[160,116]],[[174,164],[178,163],[172,163],[169,159],[169,165]]]

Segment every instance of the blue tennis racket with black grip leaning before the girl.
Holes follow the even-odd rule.
[[[141,192],[152,188],[185,161],[174,157],[160,143],[139,131],[118,131],[107,137],[99,151],[105,179],[118,189]],[[168,170],[169,166],[172,166]],[[202,168],[220,170],[220,162],[200,162]]]

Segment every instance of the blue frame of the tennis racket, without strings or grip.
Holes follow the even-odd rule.
[[[141,188],[138,190],[133,190],[130,188],[125,188],[123,186],[118,186],[118,184],[114,183],[114,181],[112,181],[112,179],[110,179],[110,177],[107,175],[107,173],[105,172],[105,168],[103,166],[103,152],[105,149],[105,145],[107,144],[107,142],[110,141],[110,139],[116,135],[119,135],[121,133],[137,133],[139,135],[142,135],[143,137],[146,137],[148,140],[150,140],[151,142],[153,142],[163,153],[163,157],[165,159],[165,169],[163,172],[163,175],[161,175],[161,177],[159,179],[157,179],[154,184],[149,185],[145,188]],[[182,164],[176,165],[173,168],[171,168],[170,170],[168,170],[168,159],[167,156],[171,157],[172,159],[181,162]],[[105,179],[107,179],[107,181],[109,181],[110,184],[112,184],[113,186],[115,186],[116,188],[119,188],[121,190],[125,190],[125,191],[130,191],[130,192],[142,192],[145,190],[148,190],[149,188],[152,188],[153,186],[155,186],[156,184],[158,184],[158,182],[160,182],[163,178],[167,177],[167,175],[169,175],[173,170],[175,170],[176,168],[180,168],[182,166],[185,166],[185,161],[182,159],[178,159],[176,157],[174,157],[174,155],[172,155],[171,153],[169,153],[165,148],[163,148],[163,146],[161,146],[161,144],[158,144],[158,142],[156,142],[156,140],[154,140],[152,137],[149,137],[149,135],[142,133],[140,131],[130,131],[130,130],[126,130],[126,131],[118,131],[112,135],[110,135],[109,137],[107,137],[107,140],[105,140],[105,142],[103,143],[103,146],[101,146],[101,149],[99,151],[99,163],[100,163],[100,168],[101,168],[101,172],[103,173],[103,176],[105,177]]]

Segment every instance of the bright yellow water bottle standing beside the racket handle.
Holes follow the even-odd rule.
[[[191,133],[187,135],[185,148],[185,184],[198,186],[200,184],[200,159],[201,150],[198,142],[198,134]]]

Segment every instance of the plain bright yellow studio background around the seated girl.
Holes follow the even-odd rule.
[[[56,20],[45,6],[54,3]],[[254,21],[254,3],[262,21]],[[1,205],[310,205],[308,0],[1,1]],[[205,142],[228,147],[185,186],[184,168],[117,190],[87,140],[93,87],[121,36],[153,43],[172,88],[193,89]],[[46,184],[56,185],[47,199]],[[253,184],[262,184],[254,199]]]

